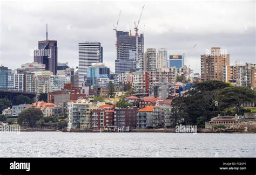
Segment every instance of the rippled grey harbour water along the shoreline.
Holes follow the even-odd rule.
[[[0,132],[0,157],[256,157],[256,134]]]

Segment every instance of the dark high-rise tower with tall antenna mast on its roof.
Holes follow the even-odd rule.
[[[34,62],[45,65],[46,71],[57,74],[58,46],[56,40],[48,40],[48,27],[46,24],[46,40],[38,41],[38,50],[34,51]]]

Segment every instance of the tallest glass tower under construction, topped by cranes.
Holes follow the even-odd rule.
[[[115,60],[115,73],[129,72],[137,68],[143,71],[144,68],[144,36],[138,37],[138,62],[136,62],[136,36],[129,32],[117,31],[117,59]]]

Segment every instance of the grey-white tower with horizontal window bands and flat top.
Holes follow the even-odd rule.
[[[103,47],[100,43],[79,43],[79,87],[83,86],[87,68],[93,63],[103,62]]]

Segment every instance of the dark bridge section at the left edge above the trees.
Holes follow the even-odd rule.
[[[32,101],[36,101],[36,93],[0,89],[0,99],[10,100],[12,102],[12,105],[17,104],[16,97],[18,95],[25,95],[28,96]]]

